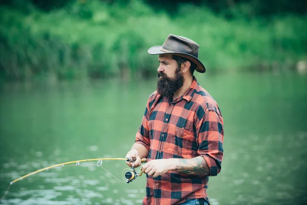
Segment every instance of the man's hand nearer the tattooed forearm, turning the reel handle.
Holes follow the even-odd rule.
[[[157,177],[171,170],[169,159],[154,159],[142,166],[142,171],[148,176]]]

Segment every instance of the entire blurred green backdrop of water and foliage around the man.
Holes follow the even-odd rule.
[[[0,197],[13,179],[66,161],[124,157],[168,34],[200,45],[225,123],[211,204],[306,204],[307,2],[273,0],[0,3]],[[140,204],[95,163],[16,182],[0,204]],[[123,161],[102,166],[121,178]]]

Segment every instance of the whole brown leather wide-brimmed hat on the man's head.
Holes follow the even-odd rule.
[[[200,46],[189,38],[169,34],[162,46],[153,46],[147,52],[150,55],[174,54],[185,57],[196,64],[196,71],[204,73],[206,68],[198,59],[199,48]]]

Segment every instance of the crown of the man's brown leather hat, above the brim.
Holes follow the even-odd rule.
[[[187,53],[198,58],[199,48],[198,44],[187,37],[169,34],[160,50]]]

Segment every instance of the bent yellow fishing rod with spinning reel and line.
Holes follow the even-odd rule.
[[[40,170],[36,170],[34,172],[31,172],[29,174],[26,174],[24,176],[21,176],[17,179],[14,179],[13,181],[11,181],[9,183],[9,186],[8,186],[8,189],[5,193],[5,195],[3,197],[1,197],[0,199],[3,199],[6,197],[6,195],[8,194],[9,192],[9,189],[10,189],[10,186],[13,185],[13,183],[21,180],[21,179],[24,179],[24,178],[27,178],[33,174],[36,174],[36,173],[39,173],[39,172],[42,172],[42,171],[45,171],[45,170],[49,170],[49,169],[53,169],[53,168],[57,168],[57,167],[64,167],[65,165],[68,165],[68,166],[72,166],[71,164],[75,163],[75,166],[79,166],[80,165],[80,162],[85,162],[85,161],[98,161],[97,162],[97,166],[98,167],[101,167],[102,169],[104,169],[101,165],[102,165],[102,160],[125,160],[125,161],[129,161],[129,162],[134,162],[136,161],[136,157],[127,157],[127,158],[96,158],[96,159],[82,159],[82,160],[75,160],[75,161],[69,161],[69,162],[64,162],[64,163],[58,163],[57,165],[53,165],[53,166],[49,166],[49,167],[45,167],[45,168],[42,168]],[[146,158],[143,158],[141,159],[141,162],[147,162],[147,159]],[[67,166],[67,167],[68,167]],[[106,172],[108,172],[106,169],[104,169]],[[141,172],[140,173],[137,173],[134,169],[134,167],[131,167],[131,170],[129,169],[124,169],[123,172],[125,170],[128,170],[125,172],[124,174],[124,177],[125,179],[122,177],[123,181],[121,181],[120,179],[118,179],[117,177],[115,177],[113,174],[111,174],[110,172],[108,172],[109,174],[111,174],[113,177],[115,177],[117,180],[121,181],[121,182],[126,182],[126,183],[129,183],[131,181],[134,181],[137,177],[139,176],[142,176],[142,168],[141,168]],[[123,173],[122,172],[122,173]]]

